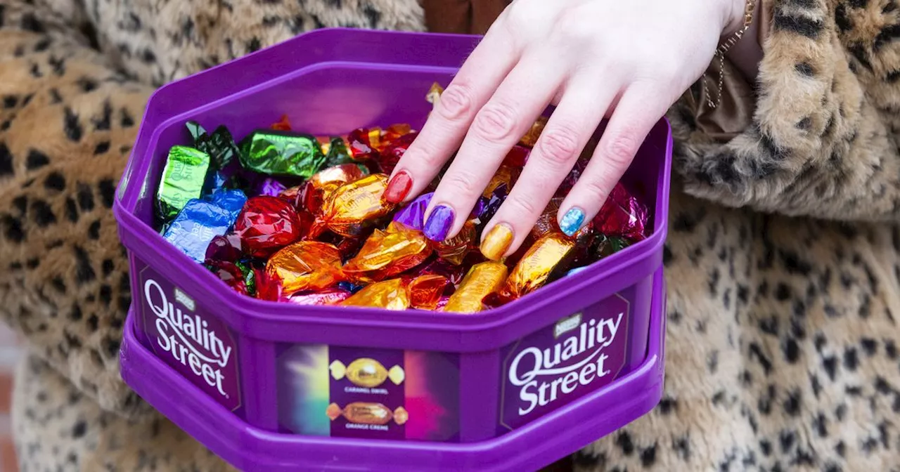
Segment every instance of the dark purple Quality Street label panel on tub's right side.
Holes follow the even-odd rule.
[[[625,366],[630,304],[618,294],[500,352],[500,426],[513,430],[604,387]]]

